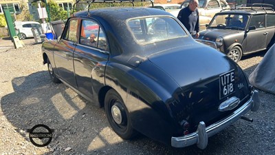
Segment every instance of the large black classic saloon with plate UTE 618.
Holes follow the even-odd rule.
[[[96,35],[96,45],[87,44]],[[76,12],[42,45],[54,83],[104,107],[113,131],[172,145],[197,144],[259,108],[258,92],[225,54],[197,43],[168,12],[101,8]]]

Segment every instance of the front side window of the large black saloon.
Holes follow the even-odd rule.
[[[67,32],[65,33],[65,36],[63,39],[67,41],[74,41],[76,43],[76,34],[77,34],[77,25],[78,21],[76,19],[73,19],[69,21],[69,26],[67,27]]]

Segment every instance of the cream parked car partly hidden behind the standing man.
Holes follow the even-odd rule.
[[[177,17],[179,11],[189,5],[189,1],[182,2],[179,9],[172,10],[170,13]],[[223,8],[229,8],[229,6],[225,0],[199,0],[197,8],[199,9],[199,29],[205,30],[206,24],[210,23],[214,14],[220,12]]]

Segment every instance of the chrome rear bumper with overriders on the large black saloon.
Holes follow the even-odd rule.
[[[214,123],[208,127],[206,124],[201,121],[197,127],[197,132],[193,132],[186,136],[172,137],[171,145],[173,147],[187,147],[189,145],[197,144],[197,147],[200,149],[205,149],[208,144],[208,137],[221,132],[232,123],[239,120],[239,118],[245,115],[249,110],[256,112],[259,110],[260,101],[259,101],[259,92],[254,90],[250,99],[239,109],[234,111],[230,116],[223,118],[221,121]]]

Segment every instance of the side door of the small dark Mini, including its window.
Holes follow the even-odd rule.
[[[250,26],[255,26],[256,30],[246,32],[245,52],[254,52],[264,50],[266,48],[267,30],[265,28],[265,14],[253,15],[250,19]]]

